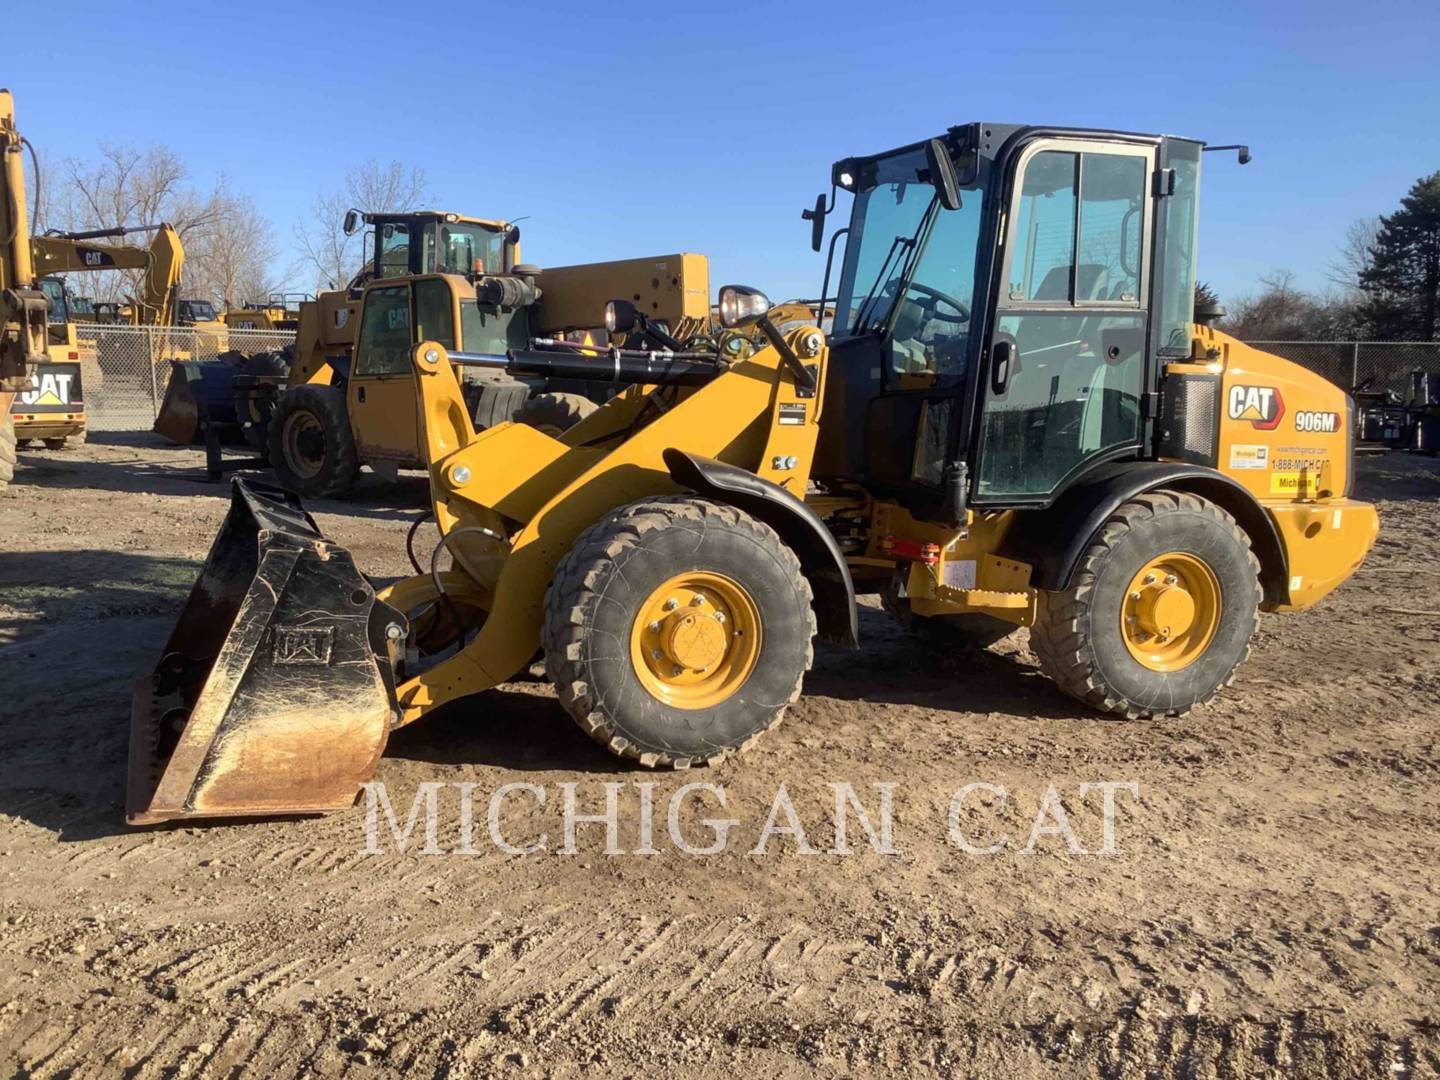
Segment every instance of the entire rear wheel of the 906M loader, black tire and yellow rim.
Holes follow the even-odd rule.
[[[1179,716],[1234,681],[1260,619],[1260,563],[1214,503],[1152,491],[1125,503],[1068,589],[1041,592],[1031,647],[1056,684],[1125,716]]]

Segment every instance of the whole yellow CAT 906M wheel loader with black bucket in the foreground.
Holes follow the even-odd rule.
[[[422,341],[428,564],[374,590],[294,497],[236,481],[137,688],[130,819],[350,805],[389,732],[537,649],[616,755],[717,762],[780,720],[816,635],[858,644],[857,592],[956,641],[1030,626],[1100,711],[1210,700],[1259,612],[1336,588],[1378,520],[1348,396],[1194,324],[1201,151],[971,124],[840,161],[831,334],[726,287],[724,325],[766,341],[739,360]],[[477,367],[626,389],[559,438],[477,432]]]

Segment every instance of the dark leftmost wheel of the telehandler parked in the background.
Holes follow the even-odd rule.
[[[311,384],[285,390],[269,422],[269,459],[279,482],[298,495],[347,495],[360,475],[360,452],[346,392]]]

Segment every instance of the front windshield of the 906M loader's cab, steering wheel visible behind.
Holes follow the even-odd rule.
[[[924,150],[864,168],[871,174],[860,177],[864,190],[851,210],[835,333],[888,328],[891,370],[959,376],[969,344],[984,194],[963,189],[960,209],[942,209]]]

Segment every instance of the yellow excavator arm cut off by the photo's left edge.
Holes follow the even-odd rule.
[[[26,145],[14,122],[14,95],[0,89],[0,490],[14,478],[10,408],[16,395],[36,390],[35,376],[49,359],[49,301],[30,253]]]

